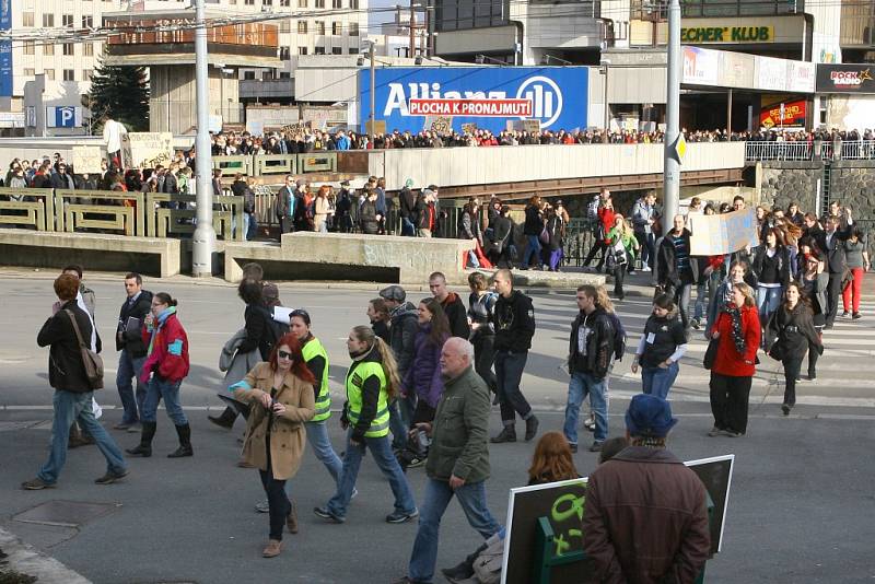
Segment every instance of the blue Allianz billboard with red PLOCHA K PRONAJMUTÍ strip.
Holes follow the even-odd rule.
[[[376,70],[375,120],[386,131],[427,129],[434,118],[453,119],[498,133],[508,120],[538,119],[541,129],[587,126],[586,67],[386,67]],[[359,121],[371,116],[371,71],[359,74]],[[430,126],[429,126],[430,127]]]

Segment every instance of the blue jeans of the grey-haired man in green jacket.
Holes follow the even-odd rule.
[[[434,564],[438,561],[438,529],[441,517],[453,495],[458,499],[468,524],[482,537],[492,537],[501,529],[486,505],[486,487],[483,481],[463,484],[455,491],[443,480],[429,479],[425,495],[419,516],[419,528],[410,554],[409,576],[415,582],[431,582],[434,576]]]

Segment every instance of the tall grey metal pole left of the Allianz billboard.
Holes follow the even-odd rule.
[[[212,152],[210,150],[210,86],[207,71],[207,17],[203,0],[195,0],[195,85],[197,91],[198,135],[195,141],[197,161],[197,226],[192,237],[191,273],[212,276],[215,230],[212,226]],[[220,79],[221,81],[221,79]],[[237,225],[238,230],[243,225]]]

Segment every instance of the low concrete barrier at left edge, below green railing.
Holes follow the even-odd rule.
[[[179,273],[179,240],[0,229],[0,264],[5,266],[62,268],[79,262],[92,270],[167,278]]]

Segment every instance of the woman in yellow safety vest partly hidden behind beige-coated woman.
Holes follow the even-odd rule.
[[[316,454],[316,458],[325,465],[337,484],[343,463],[340,462],[340,457],[331,446],[328,428],[325,425],[325,421],[331,416],[331,394],[328,390],[328,353],[319,339],[314,337],[310,330],[310,313],[300,308],[292,311],[289,314],[289,324],[291,334],[301,343],[301,353],[307,363],[307,369],[316,378],[316,383],[313,384],[316,414],[313,420],[304,424],[307,429],[307,442]],[[353,489],[352,497],[357,494],[358,491]],[[289,493],[289,499],[291,498],[292,495]],[[267,513],[269,511],[268,502],[262,501],[255,505],[255,509],[260,513]]]

